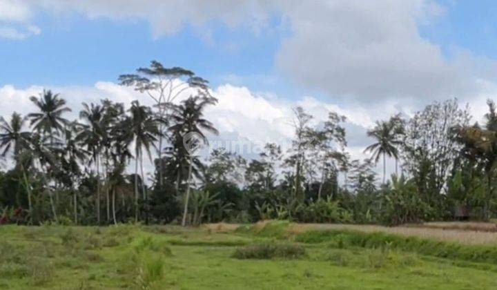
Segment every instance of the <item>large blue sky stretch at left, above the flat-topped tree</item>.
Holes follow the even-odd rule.
[[[155,37],[145,20],[41,13],[35,19],[40,35],[0,38],[0,84],[92,85],[115,81],[157,59],[165,66],[189,68],[213,86],[231,81],[257,90],[280,89],[290,84],[281,84],[284,80],[273,69],[277,47],[288,34],[277,28],[278,21],[271,21],[271,31],[254,35],[249,28],[228,28],[214,20],[209,23],[212,39],[204,39],[188,25],[175,35]],[[268,79],[260,81],[263,76]]]

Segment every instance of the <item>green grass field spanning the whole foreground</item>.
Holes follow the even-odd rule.
[[[497,289],[492,244],[295,229],[0,226],[0,289]]]

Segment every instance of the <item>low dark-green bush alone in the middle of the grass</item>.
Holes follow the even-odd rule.
[[[237,259],[298,259],[306,254],[304,247],[297,244],[261,243],[238,248],[233,253]]]

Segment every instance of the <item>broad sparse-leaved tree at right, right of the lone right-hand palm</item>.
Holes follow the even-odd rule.
[[[425,202],[444,206],[441,193],[462,148],[454,128],[467,127],[470,119],[469,108],[451,99],[429,104],[406,122],[402,168],[416,180]]]

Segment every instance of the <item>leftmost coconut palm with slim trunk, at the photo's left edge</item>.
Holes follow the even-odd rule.
[[[21,151],[28,148],[30,139],[30,132],[22,131],[25,121],[26,119],[23,119],[21,115],[15,112],[10,118],[10,123],[3,119],[3,117],[0,117],[0,155],[1,157],[5,157],[12,149],[16,166],[21,166],[24,185],[28,192],[28,209],[31,212],[31,186],[28,182],[28,176],[26,175],[26,168],[24,166],[26,162],[23,162],[26,158],[20,160]]]

